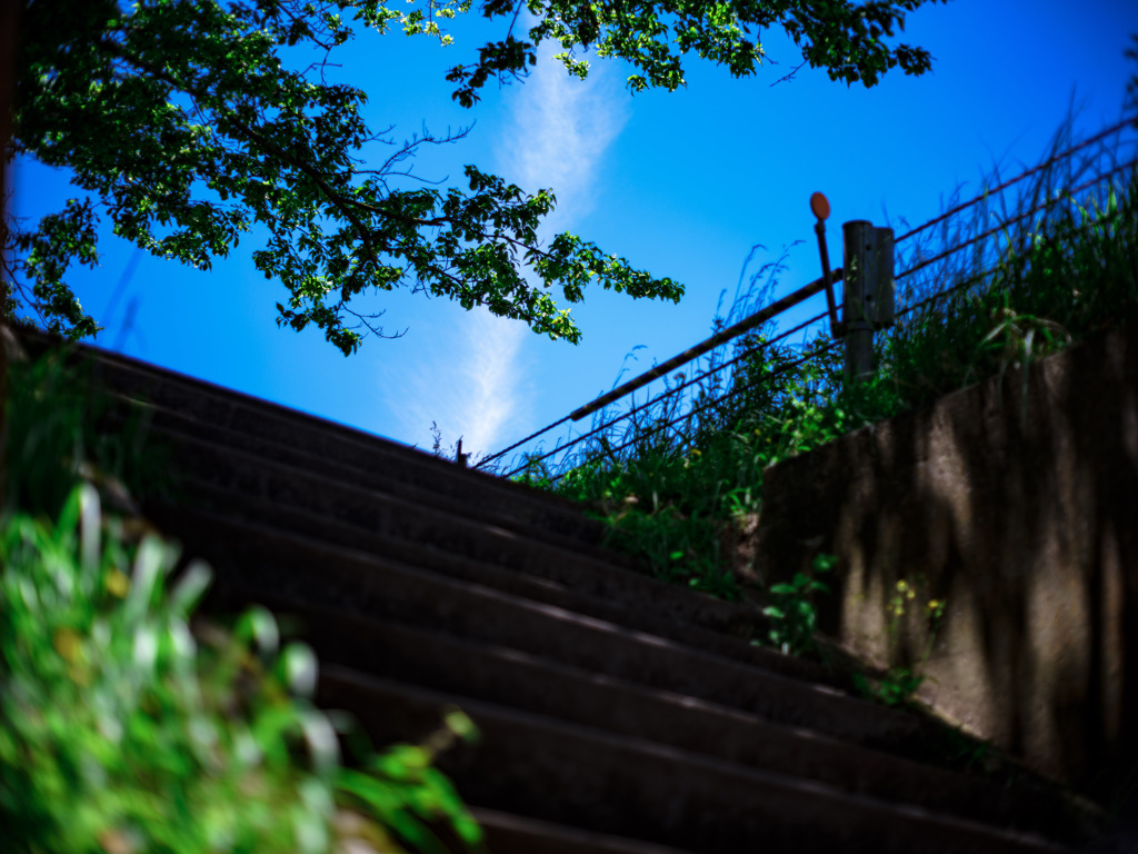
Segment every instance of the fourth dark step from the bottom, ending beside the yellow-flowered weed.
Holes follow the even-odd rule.
[[[215,596],[224,599],[226,588],[242,596],[264,591],[265,599],[310,601],[345,616],[508,647],[885,752],[920,750],[930,734],[922,718],[667,638],[386,558],[327,547],[314,552],[305,541],[280,533],[272,540],[215,536],[213,553],[205,552],[217,569]]]

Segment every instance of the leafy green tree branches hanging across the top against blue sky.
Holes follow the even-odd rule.
[[[868,87],[896,66],[929,69],[926,51],[885,41],[926,1],[485,0],[481,14],[503,19],[504,38],[447,79],[454,98],[472,106],[487,81],[523,76],[552,40],[571,74],[587,74],[580,57],[594,50],[633,64],[633,90],[671,90],[684,84],[681,60],[693,51],[732,74],[754,73],[757,34],[777,25],[806,63]],[[324,82],[319,63],[287,61],[296,52],[286,48],[327,57],[361,27],[450,43],[445,25],[470,8],[471,0],[415,0],[410,10],[382,0],[24,0],[6,158],[67,167],[85,195],[32,229],[8,223],[5,314],[38,314],[76,337],[97,331],[65,279],[73,264],[97,263],[101,216],[147,252],[199,269],[258,225],[266,239],[254,263],[288,293],[278,323],[314,323],[345,354],[358,347],[361,328],[382,331],[378,315],[352,307],[365,291],[412,287],[571,342],[580,331],[554,286],[569,303],[594,279],[678,301],[677,282],[578,237],[542,245],[550,190],[530,195],[476,166],[465,167],[462,188],[394,186],[417,147],[442,140],[414,139],[384,163],[364,163],[363,146],[382,138],[361,117],[368,95]],[[522,9],[531,26],[518,35]]]

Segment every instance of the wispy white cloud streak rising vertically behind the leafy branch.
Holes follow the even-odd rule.
[[[493,164],[527,192],[553,189],[558,205],[546,220],[546,239],[574,228],[592,210],[605,149],[627,120],[621,85],[610,69],[595,67],[583,82],[552,54],[543,49],[530,76],[508,92],[509,116]],[[413,435],[422,435],[434,419],[447,445],[462,436],[463,450],[488,453],[531,424],[535,383],[526,375],[525,353],[534,336],[525,325],[485,309],[461,314],[454,319],[453,343],[444,344],[445,358],[405,377],[401,394],[411,402],[405,397],[399,405]],[[428,391],[436,408],[429,418]]]

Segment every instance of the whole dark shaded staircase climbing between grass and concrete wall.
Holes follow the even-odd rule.
[[[147,508],[208,559],[208,607],[296,615],[320,704],[376,744],[460,706],[442,767],[492,854],[1050,852],[1085,841],[1047,789],[931,764],[935,725],[749,642],[753,608],[669,586],[550,495],[139,362],[183,478]]]

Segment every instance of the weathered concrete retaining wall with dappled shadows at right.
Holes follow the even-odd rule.
[[[765,474],[768,581],[839,557],[823,631],[1038,770],[1138,766],[1138,329],[1008,371]],[[916,585],[899,619],[897,582]]]

